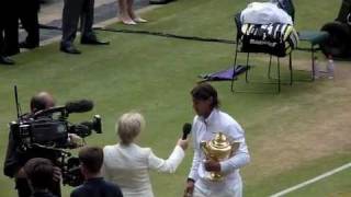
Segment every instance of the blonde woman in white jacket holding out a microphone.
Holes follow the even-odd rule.
[[[167,160],[160,159],[150,148],[141,148],[135,143],[135,138],[144,127],[141,114],[123,114],[116,123],[120,142],[103,149],[104,176],[118,184],[124,197],[154,197],[149,171],[176,172],[188,148],[188,140],[179,139],[170,157]]]

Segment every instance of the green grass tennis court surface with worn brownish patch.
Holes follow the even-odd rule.
[[[336,18],[341,1],[294,2],[297,30],[319,30],[324,23]],[[129,28],[234,39],[236,30],[233,15],[246,3],[244,0],[178,0],[143,15],[149,23]],[[125,27],[121,24],[112,26]],[[115,119],[131,109],[139,111],[147,121],[139,143],[151,147],[158,155],[167,158],[181,136],[182,124],[192,121],[194,116],[189,92],[199,80],[196,77],[227,68],[233,62],[234,46],[227,44],[107,32],[99,36],[112,44],[101,47],[78,45],[83,54],[71,56],[58,53],[58,44],[55,43],[16,56],[18,65],[14,67],[0,67],[1,167],[7,146],[7,124],[15,119],[14,84],[20,90],[23,112],[29,109],[30,97],[42,90],[52,92],[59,104],[73,99],[93,100],[93,112],[72,114],[70,117],[73,123],[86,120],[93,114],[103,117],[104,134],[89,137],[89,144],[115,143]],[[294,54],[294,62],[297,63],[309,66],[308,58],[309,54],[306,53]],[[242,59],[244,56],[240,57]],[[257,67],[250,78],[267,80],[265,59],[260,56],[253,60]],[[348,63],[342,63],[340,69],[350,70]],[[287,80],[286,63],[282,72],[283,79]],[[295,74],[298,79],[308,78],[308,72]],[[315,136],[313,132],[320,135],[318,130],[325,129],[320,128],[324,121],[333,117],[337,121],[339,116],[343,117],[350,112],[347,111],[350,108],[350,80],[295,82],[293,86],[282,85],[281,94],[269,93],[274,91],[274,85],[246,84],[244,79],[236,82],[238,90],[259,90],[267,94],[233,94],[229,82],[213,84],[219,92],[222,108],[231,114],[246,130],[252,162],[242,170],[245,196],[268,196],[350,161],[350,147],[335,144],[331,151],[325,151],[318,147],[327,142],[320,138],[324,135]],[[332,121],[330,124],[326,127],[333,126]],[[349,126],[341,120],[339,124],[340,130]],[[338,129],[333,134],[337,136]],[[341,141],[340,138],[333,137],[336,143]],[[306,139],[310,141],[310,147]],[[309,150],[315,150],[316,154],[305,153]],[[176,174],[152,172],[156,196],[181,196],[191,161],[192,150],[189,150]],[[298,190],[296,195],[293,193],[292,196],[348,194],[349,172]],[[333,182],[340,184],[330,185]],[[324,188],[324,193],[319,187]],[[70,190],[70,187],[65,187],[64,196],[68,196]],[[0,196],[14,194],[12,181],[1,175]]]

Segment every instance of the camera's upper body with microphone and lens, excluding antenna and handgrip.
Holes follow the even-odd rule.
[[[94,115],[90,121],[80,124],[71,124],[67,120],[69,114],[89,112],[92,107],[91,101],[80,100],[35,114],[21,115],[18,120],[10,123],[10,130],[22,150],[33,146],[70,148],[69,134],[86,138],[91,135],[92,130],[98,134],[102,132],[99,115]]]

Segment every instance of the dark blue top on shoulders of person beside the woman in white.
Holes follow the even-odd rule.
[[[88,179],[77,187],[70,197],[123,197],[117,185],[104,181],[102,177]]]

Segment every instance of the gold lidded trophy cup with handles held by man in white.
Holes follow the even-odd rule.
[[[239,144],[240,142],[230,143],[227,137],[222,132],[217,132],[213,140],[201,141],[200,143],[206,159],[216,162],[229,159],[239,148]],[[218,182],[224,178],[224,175],[220,172],[210,172],[208,178],[211,181]]]

